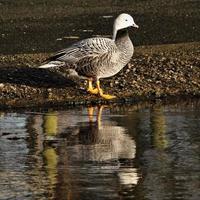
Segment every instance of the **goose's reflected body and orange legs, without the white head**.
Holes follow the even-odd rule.
[[[88,108],[88,122],[78,123],[80,129],[79,145],[75,147],[76,159],[98,162],[133,159],[135,141],[126,133],[124,127],[106,119],[106,116],[102,115],[103,109],[104,106],[101,106],[94,115],[94,108]]]

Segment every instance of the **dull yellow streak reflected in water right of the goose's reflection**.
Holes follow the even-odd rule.
[[[153,145],[158,149],[165,149],[167,147],[166,120],[162,107],[152,110],[151,126],[153,131]]]

